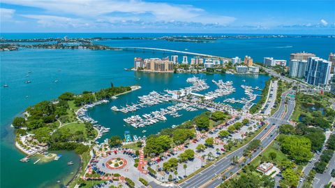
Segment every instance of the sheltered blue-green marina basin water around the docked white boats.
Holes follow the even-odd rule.
[[[95,108],[91,108],[88,111],[88,114],[97,120],[99,124],[103,124],[103,126],[107,126],[111,128],[109,133],[106,133],[101,140],[104,138],[110,138],[112,135],[123,136],[124,131],[131,131],[131,134],[136,134],[137,136],[148,136],[151,133],[157,133],[161,129],[170,127],[173,124],[181,124],[186,120],[190,120],[195,115],[199,115],[204,110],[198,110],[193,112],[188,112],[186,110],[179,111],[181,117],[171,117],[170,115],[166,115],[168,118],[166,122],[159,122],[157,124],[153,124],[151,126],[145,126],[143,128],[135,129],[133,126],[129,126],[124,122],[124,118],[130,117],[131,115],[143,115],[144,113],[150,113],[155,110],[159,110],[160,108],[166,108],[168,106],[172,106],[175,102],[170,103],[161,103],[156,106],[149,106],[147,108],[142,108],[141,110],[137,110],[133,113],[121,113],[114,112],[110,110],[112,106],[126,106],[126,104],[135,103],[139,101],[137,96],[142,96],[144,94],[149,94],[151,91],[163,92],[164,89],[180,89],[181,87],[190,86],[186,79],[193,77],[193,74],[171,74],[171,73],[133,73],[135,77],[132,79],[134,83],[137,85],[141,85],[142,88],[138,89],[130,94],[126,94],[123,96],[119,96],[117,100],[112,100],[110,103],[96,106]],[[265,86],[265,81],[269,78],[267,75],[231,75],[231,74],[214,74],[214,75],[205,75],[198,74],[200,78],[206,79],[207,84],[209,85],[209,89],[198,92],[200,94],[204,94],[206,92],[212,91],[216,89],[216,85],[214,85],[211,80],[223,80],[223,81],[232,81],[233,86],[236,88],[236,92],[223,96],[221,98],[216,99],[216,101],[223,101],[226,98],[241,99],[242,97],[247,97],[244,94],[244,89],[241,88],[241,85],[250,85],[253,87],[259,86],[260,88]],[[243,81],[245,80],[245,82]],[[255,91],[255,93],[260,94],[260,91]],[[258,99],[257,99],[258,100]],[[240,106],[236,106],[239,108]],[[147,132],[142,133],[142,130],[146,130]]]

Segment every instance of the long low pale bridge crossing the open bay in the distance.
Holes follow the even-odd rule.
[[[205,55],[205,54],[200,54],[200,53],[195,53],[195,52],[185,52],[185,51],[179,51],[179,50],[169,50],[169,49],[162,49],[162,48],[145,48],[145,47],[114,47],[117,49],[121,50],[148,50],[148,51],[161,51],[161,52],[170,52],[174,54],[182,54],[182,55],[194,55],[194,56],[199,56],[199,57],[207,57],[207,58],[215,58],[215,59],[230,59],[228,57],[220,57],[216,55]]]

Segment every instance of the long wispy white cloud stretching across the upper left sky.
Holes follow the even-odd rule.
[[[142,20],[143,22],[199,22],[201,24],[229,24],[234,17],[209,15],[201,8],[140,0],[2,0],[3,3],[42,8],[48,15],[62,15],[85,20]],[[122,15],[126,14],[126,16]],[[122,15],[122,16],[120,16]],[[119,20],[117,20],[119,19]]]

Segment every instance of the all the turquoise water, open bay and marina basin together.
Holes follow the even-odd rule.
[[[64,34],[1,34],[8,37],[38,38],[65,36]],[[68,34],[66,34],[68,35]],[[83,37],[109,36],[110,34],[83,34]],[[115,34],[113,34],[115,35]],[[165,34],[162,34],[165,35]],[[29,37],[28,37],[29,36]],[[70,36],[70,35],[68,35]],[[73,37],[81,34],[73,34]],[[124,36],[121,35],[120,36]],[[208,53],[234,57],[250,55],[258,61],[262,57],[270,56],[277,59],[288,59],[291,52],[308,51],[314,52],[320,57],[327,58],[329,52],[334,51],[334,38],[259,38],[259,39],[229,39],[220,40],[215,43],[172,43],[168,41],[100,41],[111,46],[145,46],[156,48],[168,48],[174,50],[188,49],[190,52]],[[283,48],[292,46],[290,48]],[[147,94],[152,90],[162,91],[163,89],[179,89],[185,87],[186,78],[191,74],[154,74],[134,73],[124,71],[124,68],[133,66],[133,57],[165,57],[167,54],[161,52],[122,52],[122,51],[91,51],[91,50],[32,50],[22,49],[15,52],[1,52],[1,86],[5,83],[9,87],[1,87],[1,185],[0,187],[51,187],[60,186],[57,180],[64,181],[64,178],[77,170],[77,166],[67,166],[68,161],[78,161],[79,158],[73,152],[64,152],[59,161],[52,161],[47,164],[36,164],[31,162],[23,164],[19,161],[24,155],[17,151],[13,145],[13,129],[9,124],[13,117],[20,115],[28,106],[42,100],[54,99],[63,92],[80,93],[84,90],[96,91],[102,87],[109,87],[110,82],[114,85],[139,84],[139,89],[131,94],[120,96],[117,101],[99,106],[89,111],[90,115],[101,124],[113,129],[106,136],[112,134],[123,134],[124,130],[141,135],[142,129],[132,129],[131,126],[124,126],[124,114],[114,114],[110,106],[117,104],[124,105],[136,101],[138,95]],[[58,71],[60,70],[61,71]],[[28,71],[31,71],[27,77]],[[178,78],[179,76],[179,78]],[[202,75],[211,84],[211,80],[232,80],[237,89],[241,80],[246,80],[246,85],[264,86],[267,77],[259,75],[258,78],[242,75]],[[139,79],[141,78],[141,79]],[[30,84],[24,82],[31,80]],[[53,82],[59,80],[59,82]],[[244,93],[238,90],[232,94],[240,98]],[[228,96],[230,97],[230,96]],[[220,100],[220,99],[218,99]],[[163,108],[171,104],[163,104],[154,108]],[[145,113],[147,111],[138,111]],[[188,120],[193,115],[201,113],[183,112],[179,118],[170,118],[168,122],[155,124],[146,128],[147,133],[155,133],[162,127],[179,124]],[[168,117],[169,118],[169,117]],[[112,123],[113,122],[113,123]],[[114,122],[116,122],[114,124]],[[76,162],[75,164],[78,164]],[[19,181],[20,180],[20,181]]]

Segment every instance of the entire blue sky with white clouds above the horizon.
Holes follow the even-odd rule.
[[[335,1],[1,0],[1,32],[335,34]]]

